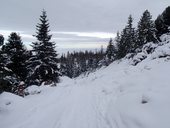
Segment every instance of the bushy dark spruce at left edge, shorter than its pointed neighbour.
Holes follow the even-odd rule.
[[[3,44],[1,42],[1,44]],[[22,80],[23,69],[22,42],[19,35],[11,33],[8,42],[0,50],[0,91],[15,93],[15,89]],[[23,73],[23,74],[22,74]]]

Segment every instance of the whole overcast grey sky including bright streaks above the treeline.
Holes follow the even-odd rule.
[[[169,0],[0,0],[0,33],[20,33],[24,42],[35,40],[35,25],[47,11],[53,40],[60,49],[99,48],[126,25],[132,14],[138,22],[148,9],[153,19]]]

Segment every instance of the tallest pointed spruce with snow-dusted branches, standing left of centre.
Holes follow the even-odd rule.
[[[46,11],[42,11],[40,23],[36,26],[36,42],[32,43],[33,56],[29,60],[29,84],[42,84],[59,82],[59,68],[55,43],[51,42],[49,23]]]

